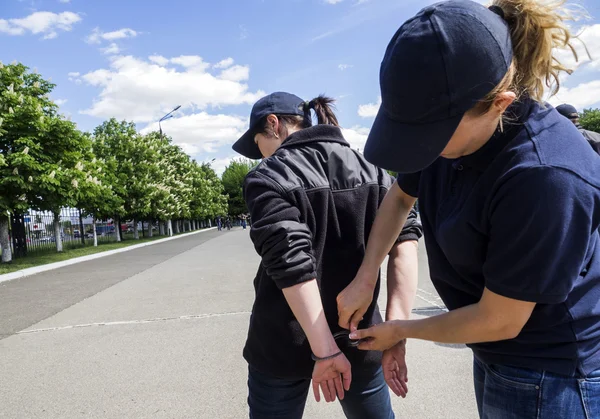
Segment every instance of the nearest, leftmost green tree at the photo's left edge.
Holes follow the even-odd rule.
[[[2,262],[10,262],[10,214],[29,209],[27,197],[42,178],[46,118],[56,116],[49,99],[54,84],[23,64],[0,63],[0,246]]]

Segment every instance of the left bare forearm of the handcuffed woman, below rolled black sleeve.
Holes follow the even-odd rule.
[[[317,281],[313,279],[284,288],[283,295],[302,326],[313,353],[318,357],[326,357],[338,352],[325,318]]]

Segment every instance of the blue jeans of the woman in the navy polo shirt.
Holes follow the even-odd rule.
[[[600,418],[600,370],[578,378],[475,359],[473,378],[482,419]]]

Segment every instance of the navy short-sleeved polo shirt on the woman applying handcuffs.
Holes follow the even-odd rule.
[[[565,375],[600,368],[600,156],[550,105],[525,100],[480,150],[400,175],[419,198],[448,309],[484,287],[537,303],[520,335],[470,345],[486,363]]]

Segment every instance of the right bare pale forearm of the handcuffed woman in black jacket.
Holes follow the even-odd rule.
[[[417,294],[419,275],[418,242],[394,246],[387,269],[386,320],[408,320]]]

